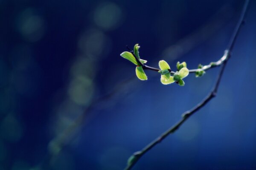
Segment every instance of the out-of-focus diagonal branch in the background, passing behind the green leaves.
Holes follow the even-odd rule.
[[[191,50],[204,40],[207,40],[207,38],[212,36],[212,34],[214,34],[214,32],[216,32],[219,28],[221,28],[221,26],[223,26],[224,23],[227,23],[227,20],[231,18],[232,13],[232,8],[230,8],[227,5],[222,6],[222,8],[219,11],[217,11],[216,14],[213,15],[212,19],[210,19],[209,22],[207,22],[204,26],[198,28],[196,31],[179,40],[177,43],[175,43],[175,45],[172,45],[169,48],[167,48],[164,51],[164,56],[172,56],[172,59],[173,56],[177,58],[180,55]],[[177,49],[182,50],[178,50],[177,53]],[[125,87],[134,87],[134,82],[132,80],[135,79],[135,77],[131,77],[123,80],[122,82],[119,82],[115,87],[113,87],[113,89],[108,94],[100,96],[99,98],[91,102],[90,105],[88,105],[87,108],[84,109],[84,112],[80,116],[78,116],[69,126],[67,126],[65,130],[63,130],[49,142],[49,147],[51,147],[51,145],[55,145],[59,148],[60,152],[63,149],[63,147],[67,146],[70,143],[70,141],[72,141],[79,127],[83,125],[85,118],[87,118],[88,112],[90,112],[92,108],[94,108],[96,105],[99,105],[99,102],[104,102],[108,99],[113,98],[113,96],[118,94],[120,91],[123,91]],[[56,155],[58,155],[58,153],[47,152],[47,156],[45,157],[45,160],[42,162],[42,165],[44,166],[44,164],[48,164],[50,161],[49,159],[52,156]]]

